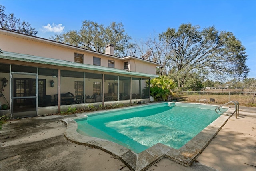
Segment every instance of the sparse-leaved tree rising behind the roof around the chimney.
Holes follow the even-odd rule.
[[[122,23],[111,22],[109,26],[84,20],[79,31],[71,30],[66,33],[51,36],[52,40],[94,50],[105,52],[107,44],[114,44],[116,56],[127,56],[128,50],[134,47],[130,43],[131,37],[125,34]]]

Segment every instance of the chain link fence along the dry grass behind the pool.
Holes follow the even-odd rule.
[[[235,100],[242,106],[256,107],[256,92],[173,91],[173,93],[177,101],[196,102],[199,99],[206,99],[208,103],[225,104]]]

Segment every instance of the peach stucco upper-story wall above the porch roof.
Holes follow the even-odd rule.
[[[17,38],[1,34],[0,40],[1,50],[14,52],[19,54],[27,54],[32,56],[40,56],[44,58],[53,58],[74,62],[74,53],[84,54],[84,64],[93,65],[93,57],[101,58],[101,66],[108,67],[108,60],[114,60],[116,69],[124,70],[124,62],[128,61],[128,70],[134,72],[142,72],[147,74],[156,74],[157,64],[150,64],[141,60],[127,59],[122,60],[118,57],[111,58],[104,54],[92,54],[88,51],[73,50],[63,48],[46,43],[36,42],[28,39]]]

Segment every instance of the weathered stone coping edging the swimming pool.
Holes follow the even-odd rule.
[[[227,112],[234,113],[234,111],[234,109],[229,108]],[[112,141],[79,134],[76,131],[77,124],[74,119],[86,117],[86,115],[80,114],[79,116],[80,117],[73,119],[60,119],[60,121],[63,121],[67,125],[64,131],[66,139],[72,143],[101,149],[122,161],[132,171],[144,171],[164,157],[186,167],[190,167],[198,155],[202,153],[210,141],[231,117],[220,115],[220,117],[204,128],[180,149],[174,149],[162,143],[158,143],[137,154],[134,151]]]

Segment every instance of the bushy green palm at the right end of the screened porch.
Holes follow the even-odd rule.
[[[158,101],[171,101],[173,99],[173,80],[168,76],[159,76],[150,80],[150,92]]]

